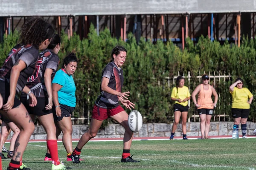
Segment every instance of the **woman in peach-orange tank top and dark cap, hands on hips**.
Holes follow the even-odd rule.
[[[200,129],[202,137],[201,139],[208,139],[210,122],[213,114],[213,109],[218,101],[218,94],[212,85],[209,85],[209,76],[204,74],[202,76],[203,84],[198,85],[192,93],[192,99],[195,106],[198,109],[200,116]],[[198,100],[195,96],[198,94]],[[212,102],[212,94],[214,96],[214,103]]]

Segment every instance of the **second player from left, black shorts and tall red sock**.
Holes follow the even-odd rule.
[[[52,170],[66,168],[58,159],[56,127],[52,115],[52,79],[58,68],[59,58],[57,54],[60,49],[61,38],[58,34],[54,34],[47,49],[39,54],[34,74],[26,82],[26,86],[36,96],[37,105],[30,107],[25,93],[22,93],[20,97],[20,101],[26,107],[32,120],[37,116],[47,133],[47,147],[52,158]]]

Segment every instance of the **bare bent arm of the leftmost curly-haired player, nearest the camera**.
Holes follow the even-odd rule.
[[[26,63],[20,59],[18,59],[17,62],[12,66],[10,76],[10,96],[8,97],[6,104],[3,105],[3,109],[5,111],[9,111],[13,107],[20,71],[22,71],[24,68],[26,68]]]

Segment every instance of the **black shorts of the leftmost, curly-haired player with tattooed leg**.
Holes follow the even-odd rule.
[[[0,94],[3,97],[3,105],[7,103],[8,101],[8,97],[10,96],[10,83],[8,83],[7,81],[2,81],[0,80]],[[17,98],[17,96],[15,96],[14,98],[14,103],[13,103],[13,108],[17,108],[20,105],[20,100]],[[3,110],[3,108],[1,108],[0,110]]]

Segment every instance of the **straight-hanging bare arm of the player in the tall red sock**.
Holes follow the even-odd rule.
[[[44,71],[44,84],[45,84],[45,87],[47,89],[47,94],[48,94],[48,105],[45,106],[46,110],[52,109],[52,79],[51,79],[51,75],[52,75],[52,69],[47,68]],[[57,93],[57,95],[58,95],[58,93]]]

